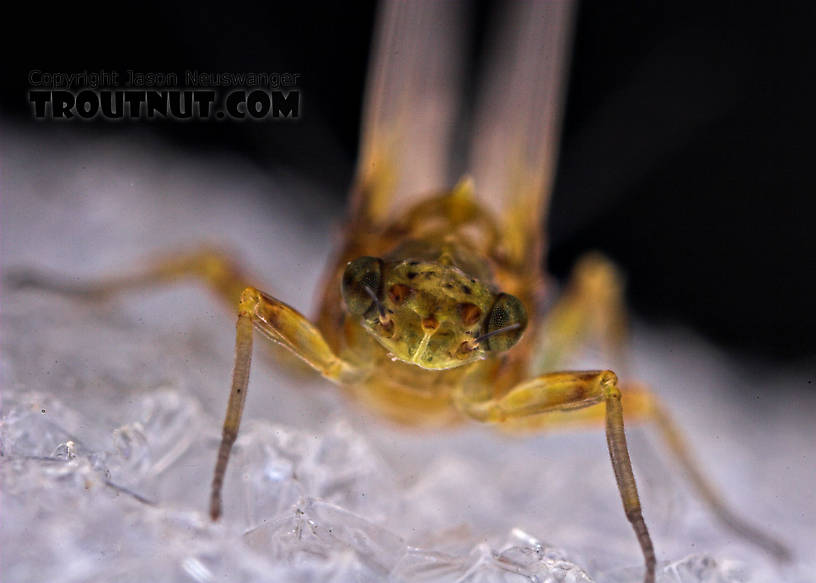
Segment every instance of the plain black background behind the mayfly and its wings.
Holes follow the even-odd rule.
[[[578,11],[549,263],[601,249],[629,301],[768,359],[816,354],[814,10],[587,2]],[[712,3],[713,4],[713,3]],[[468,79],[500,3],[474,7]],[[238,152],[346,196],[373,2],[17,6],[0,34],[2,119],[54,132],[155,132]],[[300,73],[295,123],[31,120],[30,69]]]

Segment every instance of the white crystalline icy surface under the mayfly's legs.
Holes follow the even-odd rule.
[[[4,270],[87,280],[210,241],[310,310],[341,209],[307,184],[146,140],[0,136]],[[1,316],[4,581],[641,580],[600,430],[411,432],[257,359],[212,524],[234,331],[220,305],[194,285],[97,306],[4,289]],[[631,427],[659,581],[816,581],[814,372],[643,326],[635,369],[732,505],[796,552],[779,566],[720,528]]]

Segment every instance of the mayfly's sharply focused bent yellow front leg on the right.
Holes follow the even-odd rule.
[[[612,371],[556,372],[525,381],[500,398],[480,401],[465,391],[456,394],[457,404],[468,416],[486,423],[503,423],[553,411],[606,405],[606,442],[623,501],[626,518],[632,524],[646,563],[645,583],[655,578],[652,539],[643,520],[635,475],[623,430],[623,407],[618,378]]]

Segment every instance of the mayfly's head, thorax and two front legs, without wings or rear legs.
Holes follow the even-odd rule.
[[[514,272],[497,252],[468,244],[473,220],[487,220],[472,197],[465,180],[442,198],[418,203],[409,216],[421,216],[423,207],[449,209],[427,232],[418,221],[413,230],[397,225],[379,233],[372,225],[365,231],[375,235],[370,242],[352,235],[348,247],[355,254],[357,249],[376,251],[375,243],[385,253],[348,262],[341,258],[323,304],[325,332],[254,287],[242,292],[211,515],[216,519],[221,513],[221,487],[246,398],[256,328],[369,402],[392,401],[405,420],[454,406],[473,419],[502,423],[604,403],[615,476],[646,558],[646,580],[652,580],[656,559],[629,462],[617,377],[611,371],[588,371],[527,379],[529,349],[511,348],[527,327],[524,300],[532,305],[538,274]],[[396,246],[393,232],[404,237]],[[494,273],[520,297],[499,291]]]

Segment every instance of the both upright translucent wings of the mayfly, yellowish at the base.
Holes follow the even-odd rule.
[[[381,5],[355,206],[387,222],[469,174],[511,256],[540,260],[574,2],[512,2],[495,14],[478,97],[462,108],[467,8],[463,0]],[[458,131],[464,121],[469,138]]]

